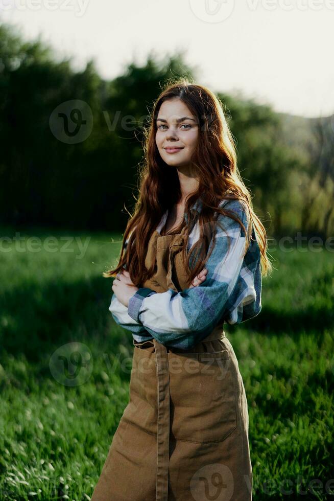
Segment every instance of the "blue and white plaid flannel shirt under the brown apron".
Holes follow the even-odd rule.
[[[225,204],[241,219],[247,230],[249,221],[242,202],[224,199],[220,207]],[[202,202],[198,199],[192,210],[200,213],[201,208]],[[158,233],[167,217],[168,210],[157,226]],[[187,222],[186,214],[185,219]],[[189,349],[205,339],[223,321],[231,325],[239,324],[261,311],[260,250],[254,229],[254,240],[243,257],[246,239],[241,225],[221,214],[217,221],[225,231],[216,223],[216,243],[204,265],[208,270],[206,279],[199,286],[181,292],[169,289],[162,293],[142,287],[130,298],[128,308],[113,294],[109,310],[115,322],[130,330],[135,340],[154,337],[165,346]],[[197,218],[189,234],[188,250],[198,237]],[[209,249],[211,244],[212,240]]]

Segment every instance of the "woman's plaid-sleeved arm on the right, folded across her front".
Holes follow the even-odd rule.
[[[236,215],[247,230],[246,213],[240,205]],[[217,225],[216,243],[205,264],[208,272],[202,284],[162,293],[142,287],[132,295],[128,308],[113,296],[109,309],[117,315],[113,314],[115,321],[134,333],[151,334],[163,345],[181,348],[194,346],[223,322],[240,292],[246,239],[234,219],[219,216],[218,221],[225,231]]]

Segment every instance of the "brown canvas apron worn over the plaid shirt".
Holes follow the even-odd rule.
[[[183,238],[152,234],[144,287],[187,287]],[[250,501],[247,399],[223,326],[186,353],[133,344],[129,403],[91,501]]]

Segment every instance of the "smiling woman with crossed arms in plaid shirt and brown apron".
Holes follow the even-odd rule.
[[[221,102],[179,80],[155,102],[110,311],[133,335],[130,400],[92,501],[252,499],[248,409],[224,322],[261,310],[266,231]]]

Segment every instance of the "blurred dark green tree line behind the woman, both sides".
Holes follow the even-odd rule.
[[[182,53],[161,61],[149,55],[144,66],[130,64],[105,81],[93,60],[75,72],[70,59],[57,61],[40,40],[24,41],[0,25],[1,222],[124,231],[135,202],[142,127],[160,85],[175,76],[197,79]],[[237,143],[238,168],[269,234],[329,236],[333,117],[292,117],[241,94],[217,94]],[[69,100],[86,103],[92,117],[88,137],[73,144],[51,125],[56,108]]]

